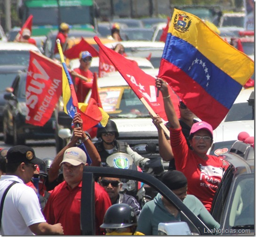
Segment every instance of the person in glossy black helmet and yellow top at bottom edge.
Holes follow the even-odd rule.
[[[110,206],[100,227],[106,230],[106,235],[144,235],[136,231],[136,213],[125,203]]]

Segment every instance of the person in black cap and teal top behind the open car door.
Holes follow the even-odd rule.
[[[181,201],[205,223],[209,229],[219,229],[220,224],[214,220],[204,205],[194,195],[187,195],[186,176],[177,170],[169,170],[162,175],[161,181],[176,194]],[[180,211],[162,195],[147,202],[139,215],[136,231],[144,235],[158,235],[160,222],[181,221]]]

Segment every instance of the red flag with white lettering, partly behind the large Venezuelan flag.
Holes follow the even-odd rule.
[[[117,68],[122,77],[127,81],[138,98],[144,98],[152,110],[167,121],[162,94],[160,93],[159,97],[156,96],[157,89],[155,87],[155,78],[142,71],[134,61],[125,58],[111,48],[105,47],[97,36],[94,37],[94,40],[99,45],[100,49],[102,49],[102,52],[104,52]],[[169,93],[179,116],[178,97],[171,89],[169,89]]]

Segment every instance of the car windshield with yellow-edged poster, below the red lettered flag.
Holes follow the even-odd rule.
[[[112,118],[150,117],[130,87],[102,87],[99,95],[104,111]]]

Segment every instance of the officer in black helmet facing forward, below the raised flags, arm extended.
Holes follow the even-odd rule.
[[[112,153],[123,152],[130,155],[136,166],[144,166],[149,160],[133,151],[127,142],[117,141],[119,132],[114,121],[108,120],[105,127],[99,127],[97,130],[97,138],[101,138],[101,142],[96,142],[94,145],[99,152],[101,162],[104,164],[106,159]]]

